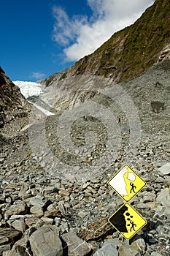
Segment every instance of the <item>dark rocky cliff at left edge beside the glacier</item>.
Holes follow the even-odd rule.
[[[12,83],[0,67],[0,126],[3,127],[5,121],[26,116],[29,109],[30,104],[20,93],[19,87]]]

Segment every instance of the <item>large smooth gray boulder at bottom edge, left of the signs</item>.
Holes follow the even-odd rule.
[[[55,226],[45,225],[40,227],[30,237],[33,255],[62,256],[63,248]]]

